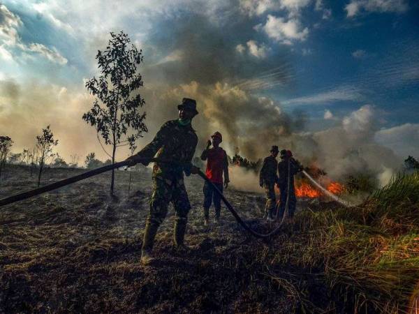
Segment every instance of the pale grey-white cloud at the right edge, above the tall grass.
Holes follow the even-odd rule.
[[[375,140],[403,158],[409,155],[419,158],[419,124],[402,124],[379,130]]]

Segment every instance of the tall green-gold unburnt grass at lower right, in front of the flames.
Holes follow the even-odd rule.
[[[409,313],[419,283],[418,172],[398,174],[359,207],[302,211],[285,232],[274,260],[310,269],[328,287],[323,311]]]

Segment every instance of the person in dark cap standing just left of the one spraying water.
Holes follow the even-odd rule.
[[[277,156],[278,147],[272,146],[270,150],[270,156],[267,156],[263,160],[262,168],[259,173],[259,185],[265,189],[266,204],[265,213],[263,218],[272,220],[272,214],[275,209],[276,197],[275,197],[275,184],[278,182],[277,176]]]

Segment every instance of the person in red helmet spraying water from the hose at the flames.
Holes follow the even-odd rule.
[[[286,210],[286,199],[288,197],[288,216],[292,218],[295,213],[295,206],[297,205],[297,198],[295,197],[294,175],[303,170],[302,165],[298,160],[293,158],[293,153],[286,149],[281,150],[281,161],[278,163],[278,187],[281,193],[279,202],[279,219],[281,220]],[[289,169],[288,169],[289,165]],[[289,174],[289,191],[288,191],[288,174]]]

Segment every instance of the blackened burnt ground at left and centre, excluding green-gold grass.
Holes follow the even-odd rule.
[[[29,169],[6,170],[0,197],[36,187]],[[43,184],[84,172],[48,169]],[[271,246],[249,237],[223,207],[219,225],[203,225],[203,181],[186,179],[192,210],[186,244],[172,249],[174,211],[156,237],[159,262],[139,263],[142,230],[151,195],[150,172],[117,171],[116,198],[110,174],[0,208],[0,313],[290,313],[300,301],[280,278],[292,265],[267,264]],[[262,194],[225,192],[240,215],[258,230]],[[212,211],[212,215],[214,212]],[[292,288],[292,287],[291,287]]]

